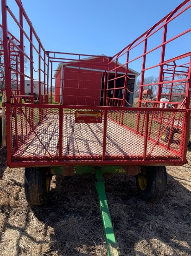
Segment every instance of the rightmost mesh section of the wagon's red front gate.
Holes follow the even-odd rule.
[[[150,112],[147,159],[183,160],[186,112]]]

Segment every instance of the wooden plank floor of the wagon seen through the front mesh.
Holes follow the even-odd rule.
[[[47,115],[27,138],[13,149],[13,160],[57,160],[59,154],[59,115]],[[62,159],[102,159],[103,122],[75,123],[74,115],[63,117]],[[174,144],[179,150],[179,145]],[[144,137],[120,124],[107,120],[106,159],[143,159]],[[151,154],[150,154],[151,152]],[[159,143],[147,141],[147,159],[180,159]]]

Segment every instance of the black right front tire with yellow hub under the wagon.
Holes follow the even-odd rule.
[[[145,188],[140,187],[139,178],[146,178]],[[159,202],[167,188],[165,166],[142,166],[141,173],[136,175],[136,185],[140,197],[146,202]]]

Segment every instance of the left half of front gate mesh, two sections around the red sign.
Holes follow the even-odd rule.
[[[104,118],[102,123],[76,123],[75,112],[81,110],[12,107],[12,159],[102,159]]]

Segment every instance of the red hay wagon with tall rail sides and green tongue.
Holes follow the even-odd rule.
[[[167,28],[182,15],[190,15],[190,0],[113,57],[45,51],[21,1],[15,2],[18,10],[13,12],[1,0],[7,165],[25,167],[26,201],[35,206],[47,202],[52,175],[95,175],[108,255],[118,255],[102,175],[135,175],[140,197],[158,202],[166,192],[166,166],[186,163],[191,51],[179,52],[177,40],[188,40],[191,28],[175,35]],[[19,35],[10,36],[7,15]],[[158,33],[162,40],[150,44]],[[168,51],[172,43],[173,53]],[[155,62],[149,65],[146,61],[152,56]],[[159,81],[145,84],[146,74],[153,70]],[[135,107],[130,99],[138,90],[134,88],[137,76],[140,87]],[[30,95],[25,79],[30,80]],[[35,80],[41,81],[38,102],[34,101]],[[157,87],[156,100],[148,97],[153,86]]]

